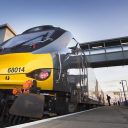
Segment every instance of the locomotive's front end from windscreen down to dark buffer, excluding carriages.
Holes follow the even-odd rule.
[[[21,117],[42,118],[44,111],[66,111],[65,99],[71,89],[66,84],[67,72],[62,70],[64,54],[59,52],[71,40],[70,32],[46,25],[28,29],[0,45],[3,120],[7,116],[10,122],[15,118],[17,123]]]

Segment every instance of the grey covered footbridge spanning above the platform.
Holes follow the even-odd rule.
[[[85,42],[80,46],[93,68],[128,64],[128,37]]]

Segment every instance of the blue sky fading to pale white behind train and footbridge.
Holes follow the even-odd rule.
[[[128,0],[1,0],[0,24],[19,34],[39,26],[69,30],[78,42],[128,36]],[[125,66],[95,69],[103,90],[119,90],[127,78]]]

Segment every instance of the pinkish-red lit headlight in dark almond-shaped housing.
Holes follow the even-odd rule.
[[[26,74],[27,77],[36,79],[36,80],[46,80],[51,74],[51,69],[36,69],[28,74]]]

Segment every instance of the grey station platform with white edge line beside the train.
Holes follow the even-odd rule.
[[[13,126],[13,128],[128,128],[128,108],[99,107],[83,112]]]

